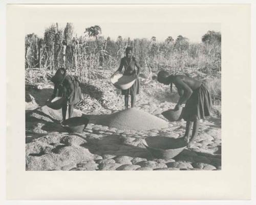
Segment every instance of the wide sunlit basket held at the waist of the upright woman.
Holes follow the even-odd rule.
[[[114,74],[110,79],[111,83],[118,89],[126,90],[132,87],[136,77],[132,75]]]

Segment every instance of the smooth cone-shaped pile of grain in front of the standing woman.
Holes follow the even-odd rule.
[[[168,127],[165,120],[135,108],[108,115],[100,120],[100,124],[118,130],[158,130]]]

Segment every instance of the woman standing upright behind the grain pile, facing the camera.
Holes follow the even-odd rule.
[[[125,57],[121,59],[120,66],[117,69],[117,72],[121,72],[122,68],[124,67],[124,72],[123,75],[131,75],[136,77],[136,81],[132,85],[131,88],[122,90],[122,95],[124,95],[124,105],[125,109],[128,109],[128,104],[129,104],[129,95],[131,95],[131,107],[133,108],[135,105],[136,101],[136,94],[139,94],[139,79],[138,76],[141,71],[140,65],[137,63],[135,57],[133,56],[133,48],[132,47],[126,47],[125,48]],[[136,70],[136,68],[138,70]],[[114,74],[115,74],[114,73]]]

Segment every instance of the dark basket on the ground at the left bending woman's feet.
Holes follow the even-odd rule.
[[[72,117],[62,122],[62,125],[70,133],[81,133],[87,126],[89,119],[86,117]]]

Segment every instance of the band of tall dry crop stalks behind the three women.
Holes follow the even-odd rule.
[[[25,68],[39,68],[54,72],[66,65],[74,70],[83,81],[93,78],[93,73],[99,67],[104,69],[118,67],[127,46],[134,48],[134,56],[141,66],[147,65],[152,71],[167,69],[174,74],[183,73],[190,67],[211,76],[217,76],[221,71],[220,43],[179,43],[158,42],[156,39],[122,39],[114,41],[99,37],[89,39],[84,36],[73,36],[72,25],[69,31],[58,29],[52,24],[46,28],[44,38],[29,34],[25,38]],[[67,28],[66,28],[67,29]],[[65,29],[65,30],[66,30]],[[62,52],[63,41],[66,51]],[[66,57],[63,62],[63,56]]]

